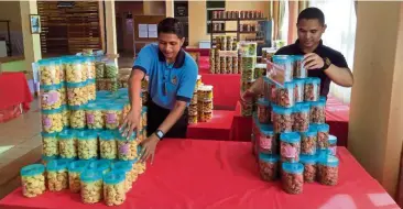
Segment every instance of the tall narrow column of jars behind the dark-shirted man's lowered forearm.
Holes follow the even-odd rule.
[[[255,67],[257,67],[257,46],[255,42],[240,42],[239,54],[241,56],[241,95],[248,90],[255,80]],[[251,117],[254,110],[255,101],[253,99],[241,101],[241,116]]]

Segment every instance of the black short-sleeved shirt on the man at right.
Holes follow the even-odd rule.
[[[322,41],[313,53],[319,55],[322,58],[326,57],[329,58],[331,64],[334,64],[337,67],[348,68],[346,58],[342,56],[342,54],[328,46],[325,46]],[[305,53],[299,47],[298,40],[294,44],[284,46],[275,53],[275,55],[304,55],[304,54]],[[330,78],[320,69],[309,69],[308,76],[320,78],[320,96],[327,97],[330,88],[330,81],[331,81]]]

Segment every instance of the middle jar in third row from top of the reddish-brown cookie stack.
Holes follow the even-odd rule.
[[[309,128],[309,103],[297,103],[293,108],[293,131],[305,132]]]

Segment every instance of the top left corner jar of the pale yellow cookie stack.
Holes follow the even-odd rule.
[[[61,66],[53,59],[41,59],[37,62],[41,85],[61,84]]]

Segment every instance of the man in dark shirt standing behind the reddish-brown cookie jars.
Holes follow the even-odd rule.
[[[320,78],[320,95],[327,97],[330,81],[351,87],[353,77],[341,53],[325,46],[322,34],[325,33],[325,15],[317,8],[303,10],[296,23],[298,40],[291,45],[280,48],[275,55],[304,55],[304,66],[309,77]],[[263,79],[257,79],[250,89],[242,95],[242,99],[261,95]]]

